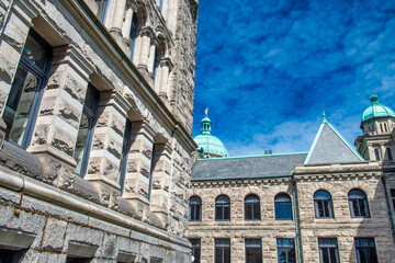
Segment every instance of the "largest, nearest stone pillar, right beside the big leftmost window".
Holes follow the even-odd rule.
[[[48,180],[55,181],[60,167],[68,165],[75,174],[74,150],[77,141],[89,76],[93,68],[72,46],[53,50],[50,78],[45,87],[36,126],[27,151],[35,153],[46,169]],[[59,164],[61,163],[61,164]],[[67,184],[68,178],[58,179],[58,185]],[[56,183],[55,183],[56,184]]]

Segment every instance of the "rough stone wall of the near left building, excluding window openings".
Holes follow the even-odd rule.
[[[30,165],[21,170],[18,161],[15,163],[8,157],[7,149],[13,149],[13,146],[5,141],[7,149],[0,150],[0,155],[5,158],[3,164],[9,169],[5,173],[13,174],[16,171],[23,176],[46,183],[44,188],[57,187],[65,195],[70,195],[71,199],[82,197],[89,204],[110,209],[114,215],[126,216],[132,221],[143,224],[142,229],[170,235],[166,240],[168,243],[161,244],[160,238],[153,232],[131,230],[106,221],[105,218],[95,224],[97,217],[84,215],[88,211],[72,211],[63,205],[52,205],[50,199],[44,203],[35,201],[40,209],[32,209],[22,203],[19,205],[23,217],[18,217],[18,224],[26,226],[14,229],[15,218],[10,216],[2,218],[4,221],[0,228],[34,232],[34,242],[38,243],[34,243],[26,253],[26,259],[32,259],[32,262],[43,262],[37,256],[47,252],[60,261],[69,251],[70,242],[67,238],[56,248],[46,248],[44,241],[37,241],[42,239],[42,235],[58,242],[61,242],[60,236],[74,237],[70,238],[71,243],[89,244],[99,248],[97,251],[106,247],[109,239],[110,258],[94,253],[93,258],[100,262],[113,262],[117,256],[116,251],[126,249],[126,244],[119,241],[123,239],[131,243],[128,249],[134,248],[133,253],[142,262],[142,254],[145,253],[147,255],[144,256],[147,260],[151,258],[151,262],[190,261],[190,248],[184,238],[192,152],[196,148],[191,130],[198,5],[189,0],[165,2],[165,10],[160,11],[159,3],[154,1],[109,0],[104,24],[99,18],[103,11],[100,11],[102,1],[14,0],[12,8],[9,7],[9,1],[0,2],[1,114],[30,31],[35,31],[52,47],[49,70],[34,118],[31,140],[24,149],[16,149],[23,156],[18,159],[21,163],[26,163],[24,158],[37,162],[33,165],[35,170],[31,170]],[[135,43],[136,57],[131,58],[133,39],[129,31],[133,15],[137,15],[139,27]],[[182,24],[177,23],[176,27],[174,21],[179,21],[179,18],[183,18]],[[181,39],[174,45],[176,35],[181,37],[182,34],[185,34],[188,41]],[[182,47],[183,45],[188,46]],[[191,56],[185,58],[181,49],[187,49]],[[161,53],[160,61],[156,56],[158,52]],[[182,64],[178,61],[181,58]],[[155,62],[155,59],[158,61]],[[189,65],[189,71],[174,73],[181,70],[179,65],[183,67],[184,64]],[[160,78],[154,76],[154,67],[157,67],[157,76]],[[170,93],[183,93],[181,88],[187,87],[184,83],[188,83],[190,91],[188,98],[172,100],[170,103]],[[81,178],[76,174],[76,145],[82,125],[88,87],[93,87],[100,99],[91,145],[86,149],[90,150],[87,169]],[[179,111],[173,111],[176,107]],[[125,181],[122,184],[119,171],[126,119],[132,123],[132,132]],[[15,153],[11,156],[15,157]],[[5,182],[1,185],[12,188]],[[121,195],[122,185],[124,188]],[[5,188],[0,193],[8,193]],[[12,195],[12,192],[9,194]],[[25,194],[25,197],[33,198],[32,195],[35,196],[32,192]],[[9,209],[15,204],[18,203],[4,198],[0,207]],[[46,213],[52,208],[65,211],[53,217]],[[84,219],[68,219],[65,216],[68,213],[75,213],[76,217]],[[31,226],[29,221],[35,217],[38,218],[37,226]],[[44,227],[46,222],[49,224],[48,229]],[[52,237],[50,229],[56,226],[66,230],[61,230],[58,237],[55,233]],[[120,229],[113,231],[112,228]],[[77,237],[80,230],[92,240]],[[184,245],[178,244],[178,238]],[[153,245],[157,249],[151,249]]]

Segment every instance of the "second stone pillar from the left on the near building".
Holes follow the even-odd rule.
[[[92,149],[84,179],[98,190],[101,202],[110,207],[120,197],[119,171],[125,132],[126,108],[119,92],[102,92],[94,127]]]

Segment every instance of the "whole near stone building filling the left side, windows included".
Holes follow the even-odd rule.
[[[0,0],[0,262],[190,262],[196,0]]]

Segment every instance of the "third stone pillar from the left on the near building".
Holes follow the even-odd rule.
[[[127,158],[123,198],[131,203],[148,203],[149,173],[155,133],[148,123],[132,123],[131,149]]]

